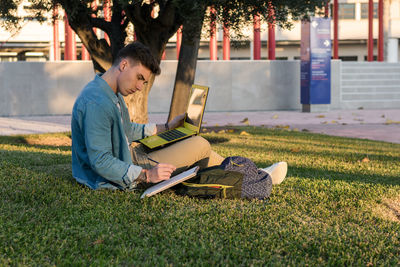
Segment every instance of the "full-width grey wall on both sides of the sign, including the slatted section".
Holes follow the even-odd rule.
[[[162,62],[149,112],[168,112],[176,67]],[[330,109],[400,107],[400,64],[334,60],[331,69]],[[93,77],[91,62],[0,62],[0,116],[70,114]],[[299,61],[198,61],[195,83],[210,87],[207,111],[301,109]]]

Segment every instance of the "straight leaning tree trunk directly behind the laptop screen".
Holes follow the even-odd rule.
[[[191,86],[194,83],[196,74],[203,18],[204,12],[201,19],[194,19],[183,25],[182,45],[179,53],[168,121],[186,112]]]

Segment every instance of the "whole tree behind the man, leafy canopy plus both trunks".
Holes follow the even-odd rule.
[[[128,25],[134,25],[137,40],[147,45],[161,60],[168,40],[183,26],[182,47],[175,79],[174,96],[171,101],[172,115],[185,110],[183,103],[189,95],[194,81],[197,50],[202,27],[217,20],[230,28],[238,38],[243,36],[243,27],[251,25],[254,15],[261,20],[273,22],[288,28],[292,21],[307,18],[315,10],[321,10],[326,0],[109,0],[111,19],[106,20],[103,7],[106,0],[100,0],[98,8],[93,9],[92,0],[25,0],[30,4],[30,16],[44,21],[52,14],[55,5],[61,6],[72,29],[89,51],[94,69],[107,70],[118,51],[125,45]],[[2,0],[0,25],[6,29],[18,28],[22,17],[17,9],[22,0]],[[213,7],[215,12],[208,12]],[[99,38],[93,31],[99,28],[110,38],[110,43]],[[208,28],[209,29],[209,28]],[[132,39],[132,38],[131,38]],[[154,77],[147,88],[139,94],[126,98],[131,118],[137,122],[147,121],[147,95]]]

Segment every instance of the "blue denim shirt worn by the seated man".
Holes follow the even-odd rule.
[[[130,190],[142,168],[132,164],[129,144],[151,135],[155,124],[130,122],[123,97],[96,75],[72,110],[72,175],[92,189]]]

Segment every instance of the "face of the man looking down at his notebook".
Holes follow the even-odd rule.
[[[128,59],[121,60],[119,71],[117,92],[123,96],[142,90],[146,86],[151,75],[151,71],[148,68],[140,63],[134,65]]]

